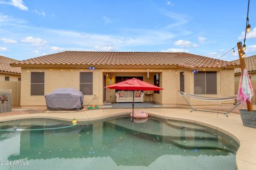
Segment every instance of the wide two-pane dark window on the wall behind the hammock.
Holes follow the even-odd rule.
[[[195,94],[217,94],[217,72],[198,72],[194,74]]]

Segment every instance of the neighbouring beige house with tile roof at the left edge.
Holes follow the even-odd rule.
[[[21,68],[11,67],[10,63],[18,60],[0,55],[0,89],[12,90],[12,106],[20,106]]]

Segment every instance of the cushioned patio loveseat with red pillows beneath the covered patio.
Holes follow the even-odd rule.
[[[118,91],[116,92],[116,102],[132,102],[133,91]],[[143,102],[144,93],[140,91],[134,91],[134,102]]]

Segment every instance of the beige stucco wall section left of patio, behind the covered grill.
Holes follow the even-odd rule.
[[[61,71],[62,70],[62,71]],[[72,71],[71,71],[72,70]],[[81,71],[83,70],[83,71]],[[79,72],[90,71],[85,69],[21,69],[21,106],[45,106],[44,95],[30,95],[31,72],[44,72],[45,84],[44,94],[49,94],[56,88],[76,88],[79,91]],[[93,95],[84,96],[84,104],[102,104],[103,102],[103,82],[102,71],[93,71]]]

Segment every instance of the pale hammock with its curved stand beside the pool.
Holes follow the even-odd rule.
[[[182,96],[182,98],[188,103],[189,107],[192,109],[190,112],[192,112],[192,111],[214,112],[214,113],[218,113],[218,114],[225,114],[225,115],[228,117],[228,114],[229,114],[232,110],[234,110],[236,107],[238,107],[239,104],[240,104],[240,103],[237,103],[235,107],[231,108],[231,109],[230,109],[229,111],[227,111],[227,112],[196,109],[196,108],[194,108],[193,106],[191,106],[191,104],[188,102],[188,100],[183,96],[183,95],[186,95],[187,93],[184,93],[184,92],[181,92],[181,91],[178,91],[178,92],[180,93],[180,95]],[[193,98],[193,95],[188,95],[188,96],[190,96],[191,98]],[[198,96],[198,98],[195,98],[195,99],[204,100],[204,99],[206,99],[206,98],[204,97],[204,98],[200,99],[199,96]],[[227,99],[227,98],[224,99],[224,98],[223,98],[223,100],[231,100],[231,99],[232,99],[232,97],[230,97],[230,99]],[[233,99],[235,99],[235,97],[234,97]],[[208,101],[210,101],[210,100],[211,100],[211,99],[209,98]],[[218,100],[212,100],[212,101],[218,101]],[[220,99],[219,101],[221,101],[221,99]]]

